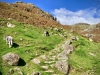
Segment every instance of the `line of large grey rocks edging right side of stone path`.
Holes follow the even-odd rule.
[[[67,40],[65,44],[62,45],[63,51],[58,54],[58,61],[55,64],[55,67],[65,75],[67,75],[69,71],[69,64],[67,61],[69,58],[67,55],[73,51],[73,46],[71,45],[71,43],[72,42],[70,40]]]

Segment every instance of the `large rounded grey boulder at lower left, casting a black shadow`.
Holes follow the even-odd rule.
[[[20,57],[19,55],[15,53],[7,53],[2,56],[2,59],[4,62],[8,63],[9,65],[17,66],[19,63]]]

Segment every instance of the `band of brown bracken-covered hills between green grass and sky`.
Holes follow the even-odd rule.
[[[100,42],[100,23],[97,25],[77,23],[72,26],[63,26],[57,22],[57,18],[53,17],[48,12],[41,10],[34,4],[24,2],[15,2],[13,4],[9,4],[0,2],[0,17],[8,20],[14,19],[19,22],[44,28],[47,26],[60,27],[74,31],[88,39],[89,35],[91,35],[93,41]]]

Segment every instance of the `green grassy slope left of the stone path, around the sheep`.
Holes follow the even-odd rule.
[[[2,19],[1,19],[2,20]],[[49,37],[43,36],[44,29],[39,27],[34,27],[32,25],[21,24],[15,21],[10,21],[12,24],[15,25],[14,28],[8,28],[6,26],[7,21],[0,21],[4,22],[3,27],[0,27],[0,59],[2,55],[13,52],[20,55],[23,59],[23,63],[20,63],[18,67],[21,68],[24,75],[31,74],[33,71],[44,71],[38,65],[35,65],[31,62],[31,60],[35,57],[43,55],[48,51],[54,49],[57,44],[61,43],[64,39],[57,35],[51,35]],[[49,32],[51,30],[47,29]],[[17,33],[17,34],[15,34]],[[11,35],[14,38],[14,47],[8,48],[6,42],[3,40],[5,35]],[[23,41],[20,40],[23,39]],[[26,51],[29,51],[28,53]],[[29,64],[29,68],[26,68],[25,64]],[[9,66],[4,64],[0,61],[0,71],[3,75],[9,72],[10,69],[15,68],[15,66]],[[43,75],[45,72],[42,72]],[[49,73],[46,73],[49,75]],[[15,74],[17,75],[17,73]]]

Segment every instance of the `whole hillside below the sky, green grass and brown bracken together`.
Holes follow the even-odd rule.
[[[99,24],[63,26],[51,14],[23,2],[0,2],[0,11],[0,75],[100,74],[100,43],[91,41],[100,33]],[[44,36],[45,30],[50,36]],[[11,48],[3,40],[7,35],[13,37]],[[17,65],[14,54],[20,57]]]

